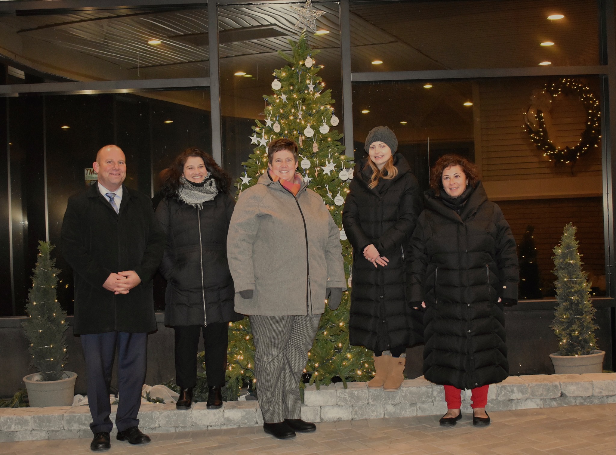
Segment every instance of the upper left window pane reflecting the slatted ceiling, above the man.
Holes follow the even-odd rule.
[[[18,63],[67,80],[209,77],[203,8],[7,15],[0,36]]]

